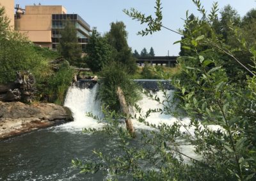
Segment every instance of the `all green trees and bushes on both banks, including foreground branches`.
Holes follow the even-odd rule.
[[[163,24],[161,0],[156,0],[154,17],[133,8],[124,10],[129,17],[147,24],[147,28],[138,33],[142,36],[161,29],[182,35],[181,40],[175,42],[180,43],[175,68],[148,64],[137,68],[136,58],[127,44],[124,22],[112,22],[104,35],[93,28],[87,55],[81,57],[77,55],[77,46],[64,46],[68,38],[61,40],[59,52],[35,47],[26,37],[8,28],[8,19],[0,7],[0,17],[3,17],[0,18],[0,47],[4,47],[0,49],[0,83],[12,81],[17,71],[29,70],[36,79],[35,101],[63,105],[65,92],[76,73],[72,66],[88,66],[93,73],[104,77],[99,99],[106,127],[84,129],[84,132],[103,131],[110,139],[115,138],[120,152],[113,155],[111,151],[102,154],[100,150],[93,150],[97,161],[74,159],[72,164],[81,173],[102,171],[113,179],[129,175],[134,180],[256,180],[256,36],[253,35],[256,10],[240,17],[229,5],[218,13],[218,3],[213,3],[208,13],[200,0],[192,1],[201,16],[195,17],[187,11],[184,28],[179,31]],[[71,25],[63,31],[72,33]],[[76,39],[76,35],[72,37]],[[72,40],[72,45],[73,41],[76,40]],[[70,48],[71,53],[63,54],[65,48]],[[66,61],[53,69],[49,61],[60,55]],[[140,96],[138,87],[131,81],[133,78],[172,78],[176,89],[174,98],[170,99],[166,92],[163,92],[164,101],[150,96],[163,109],[148,110],[142,115],[140,105],[136,105]],[[120,88],[122,94],[116,94]],[[134,134],[132,131],[132,135],[131,129],[120,127],[120,119],[131,119],[124,111],[127,106],[120,108],[120,103],[134,106],[137,114],[132,118],[153,130],[138,130],[140,137],[136,140],[136,131]],[[170,115],[177,121],[150,124],[147,118],[154,112]],[[184,117],[189,117],[189,124],[184,124]],[[221,129],[211,129],[212,126]],[[143,147],[136,147],[136,141]],[[198,158],[180,151],[184,143],[195,148]],[[184,157],[189,159],[189,164]],[[152,169],[145,169],[145,164]]]

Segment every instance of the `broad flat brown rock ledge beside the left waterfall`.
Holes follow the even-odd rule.
[[[3,103],[0,101],[0,139],[72,121],[68,108],[51,103]]]

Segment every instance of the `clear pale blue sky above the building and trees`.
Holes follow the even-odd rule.
[[[207,11],[211,10],[212,0],[202,0]],[[136,33],[143,29],[143,25],[139,22],[127,17],[122,10],[124,8],[136,8],[137,10],[146,13],[154,13],[154,0],[15,0],[15,4],[20,4],[22,8],[33,3],[41,3],[42,5],[63,5],[68,13],[79,14],[91,27],[97,27],[100,33],[109,31],[111,22],[123,21],[128,31],[128,43],[132,50],[138,52],[145,47],[149,51],[150,47],[154,48],[156,55],[167,55],[168,50],[170,55],[179,54],[179,45],[173,45],[173,42],[180,40],[180,36],[167,30],[149,35],[138,36]],[[186,17],[186,10],[190,13],[198,15],[196,6],[191,0],[162,0],[163,4],[163,24],[171,29],[182,28]],[[221,0],[218,1],[220,10],[227,4],[235,8],[239,15],[243,16],[247,11],[256,8],[255,0]]]

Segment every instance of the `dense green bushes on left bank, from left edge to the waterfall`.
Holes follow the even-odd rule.
[[[65,63],[55,73],[49,61],[58,57],[58,52],[37,47],[8,25],[4,8],[0,7],[0,84],[13,82],[17,71],[29,71],[36,80],[37,100],[63,103],[74,70]]]

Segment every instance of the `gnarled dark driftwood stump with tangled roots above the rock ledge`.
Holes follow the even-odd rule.
[[[16,80],[6,85],[0,85],[0,101],[22,101],[30,103],[35,94],[35,78],[28,71],[17,72]]]

